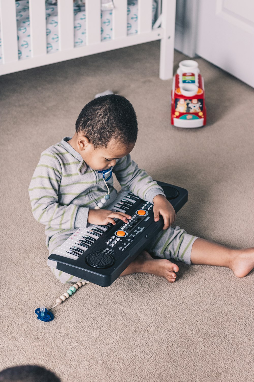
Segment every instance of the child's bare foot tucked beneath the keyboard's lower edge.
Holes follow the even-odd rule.
[[[150,273],[166,278],[168,282],[173,283],[176,280],[175,272],[179,267],[166,259],[153,259],[147,251],[142,251],[139,256],[123,271],[121,276],[131,273],[141,272]]]

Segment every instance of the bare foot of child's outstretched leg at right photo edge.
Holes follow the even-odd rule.
[[[254,248],[234,251],[229,267],[236,277],[244,277],[254,268]]]

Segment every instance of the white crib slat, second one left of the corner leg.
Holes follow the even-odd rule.
[[[113,39],[127,36],[127,0],[114,0]]]

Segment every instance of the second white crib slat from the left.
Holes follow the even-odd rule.
[[[29,0],[32,57],[47,53],[45,0]]]

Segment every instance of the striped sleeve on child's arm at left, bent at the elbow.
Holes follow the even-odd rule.
[[[51,152],[44,151],[29,185],[34,218],[37,222],[54,228],[86,227],[88,208],[75,204],[61,206],[58,203],[61,179],[62,168],[59,160]]]

